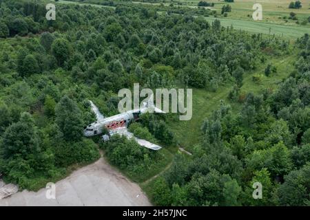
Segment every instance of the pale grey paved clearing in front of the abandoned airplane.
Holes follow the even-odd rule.
[[[47,190],[17,192],[0,199],[0,206],[152,206],[141,188],[103,157],[56,182],[56,199],[46,199]]]

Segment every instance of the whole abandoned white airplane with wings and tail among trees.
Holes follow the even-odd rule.
[[[101,135],[103,133],[103,127],[106,127],[107,131],[109,131],[109,135],[103,135],[104,141],[110,140],[110,136],[112,135],[119,134],[125,135],[128,139],[133,138],[139,145],[152,149],[154,151],[161,149],[161,146],[148,142],[147,140],[134,137],[133,133],[127,131],[127,126],[128,124],[130,124],[130,122],[138,120],[141,114],[148,112],[150,109],[152,109],[156,113],[165,113],[161,109],[157,109],[156,107],[154,107],[154,103],[143,102],[143,107],[140,109],[126,111],[118,115],[113,115],[109,118],[104,118],[104,116],[100,113],[98,107],[96,107],[96,105],[92,101],[90,101],[90,105],[92,107],[92,111],[96,115],[96,122],[93,122],[92,124],[89,124],[85,127],[84,135],[86,137]]]

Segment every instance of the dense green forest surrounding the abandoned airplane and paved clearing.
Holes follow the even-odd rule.
[[[45,18],[50,2],[54,21]],[[310,206],[310,31],[289,40],[208,22],[216,12],[207,8],[88,2],[100,7],[0,0],[4,181],[39,190],[103,152],[154,205]],[[88,100],[116,115],[118,90],[134,83],[193,88],[198,129],[147,113],[129,130],[160,151],[118,135],[83,137],[96,120]],[[262,199],[252,197],[255,182]]]

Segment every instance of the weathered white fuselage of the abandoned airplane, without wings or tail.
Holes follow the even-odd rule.
[[[89,124],[84,129],[84,135],[86,137],[92,137],[94,135],[100,135],[103,133],[103,128],[107,128],[107,130],[118,129],[121,127],[127,127],[130,122],[138,120],[141,115],[140,109],[134,109],[131,111],[126,111],[124,113],[120,113],[118,115],[113,115],[109,118],[103,118],[92,124]]]

